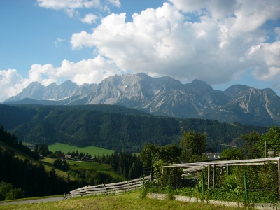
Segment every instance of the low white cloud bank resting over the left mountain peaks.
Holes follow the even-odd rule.
[[[3,70],[0,71],[0,102],[19,94],[23,88],[34,81],[46,86],[51,83],[61,84],[65,80],[71,80],[81,85],[83,83],[99,83],[104,78],[116,74],[121,74],[118,67],[100,55],[94,59],[76,63],[65,59],[59,67],[52,64],[33,64],[29,70],[28,78],[25,79],[15,69]]]

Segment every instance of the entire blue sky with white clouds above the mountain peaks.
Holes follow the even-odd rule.
[[[0,1],[0,102],[126,73],[280,95],[279,0]]]

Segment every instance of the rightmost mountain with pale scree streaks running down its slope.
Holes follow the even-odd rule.
[[[205,115],[204,118],[221,121],[238,121],[252,125],[279,125],[280,98],[270,89],[248,87],[238,92],[225,106]]]

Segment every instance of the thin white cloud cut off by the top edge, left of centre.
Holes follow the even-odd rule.
[[[120,7],[119,0],[37,0],[38,6],[43,8],[51,8],[54,10],[64,10],[69,17],[78,15],[78,8],[97,8],[99,10],[108,11],[109,5]]]

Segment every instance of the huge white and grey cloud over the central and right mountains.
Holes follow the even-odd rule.
[[[279,18],[279,1],[169,1],[172,4],[134,13],[132,22],[125,22],[125,13],[108,15],[92,32],[72,34],[72,48],[94,47],[124,72],[181,81],[198,78],[212,85],[235,79],[257,64],[263,68],[275,58],[261,57],[260,52],[253,56],[248,49],[267,41],[261,26]],[[199,21],[189,20],[190,13]],[[254,57],[262,62],[253,62]]]

